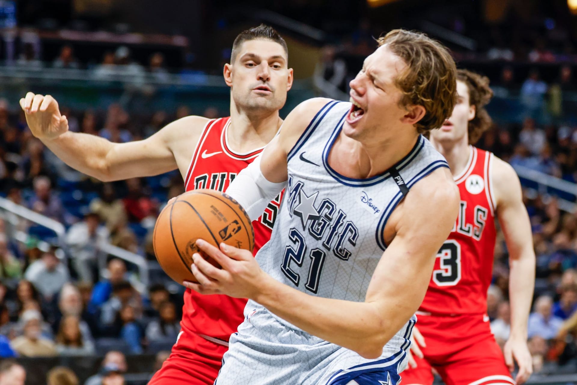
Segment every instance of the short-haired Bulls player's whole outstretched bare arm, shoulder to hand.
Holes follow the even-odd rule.
[[[114,181],[162,174],[177,168],[172,151],[181,134],[200,135],[207,121],[186,117],[168,124],[145,140],[112,143],[104,138],[68,130],[68,120],[61,115],[58,102],[50,95],[28,92],[20,99],[32,134],[38,137],[67,165],[98,178]]]

